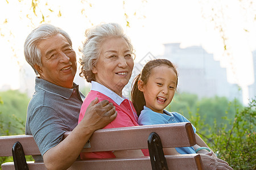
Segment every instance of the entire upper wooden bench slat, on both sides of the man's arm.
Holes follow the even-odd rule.
[[[190,123],[133,126],[126,128],[100,129],[90,138],[91,148],[83,152],[117,151],[147,148],[147,138],[151,132],[159,135],[163,147],[193,146],[196,143]],[[71,132],[64,134],[67,137]],[[0,156],[11,156],[11,148],[19,141],[25,155],[40,155],[38,146],[31,135],[0,137]]]

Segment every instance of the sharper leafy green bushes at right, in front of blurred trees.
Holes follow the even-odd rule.
[[[230,105],[230,104],[229,104]],[[247,107],[240,110],[240,105],[230,105],[236,109],[234,119],[222,116],[226,123],[213,126],[204,124],[200,114],[190,113],[189,121],[196,127],[197,134],[233,169],[256,169],[255,117],[256,101],[250,101]],[[231,128],[229,128],[231,127]]]

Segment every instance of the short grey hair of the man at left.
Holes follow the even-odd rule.
[[[49,37],[56,36],[61,34],[67,39],[69,45],[72,46],[71,38],[68,33],[63,29],[55,27],[51,24],[42,24],[38,28],[35,28],[28,36],[24,43],[24,56],[26,61],[31,65],[34,69],[36,75],[38,75],[38,71],[35,69],[35,65],[42,66],[41,57],[42,54],[38,45],[41,41],[48,39]]]

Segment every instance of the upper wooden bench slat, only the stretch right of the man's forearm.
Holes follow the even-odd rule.
[[[147,138],[151,132],[159,135],[163,147],[184,147],[196,144],[190,123],[133,126],[126,128],[101,129],[90,138],[90,148],[82,152],[135,150],[147,148]],[[66,133],[68,135],[70,132]]]

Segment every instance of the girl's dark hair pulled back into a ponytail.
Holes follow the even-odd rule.
[[[133,86],[131,87],[131,101],[133,101],[134,108],[139,116],[141,114],[141,111],[143,110],[144,105],[146,105],[146,101],[144,98],[144,94],[142,91],[139,91],[138,89],[138,81],[141,79],[143,82],[143,86],[147,84],[148,78],[150,77],[150,74],[152,73],[152,70],[155,67],[159,66],[167,66],[174,70],[174,72],[177,75],[177,70],[175,65],[169,61],[168,59],[154,59],[151,61],[148,61],[146,65],[143,67],[141,73],[135,77],[133,80]],[[177,82],[176,82],[177,87]]]

